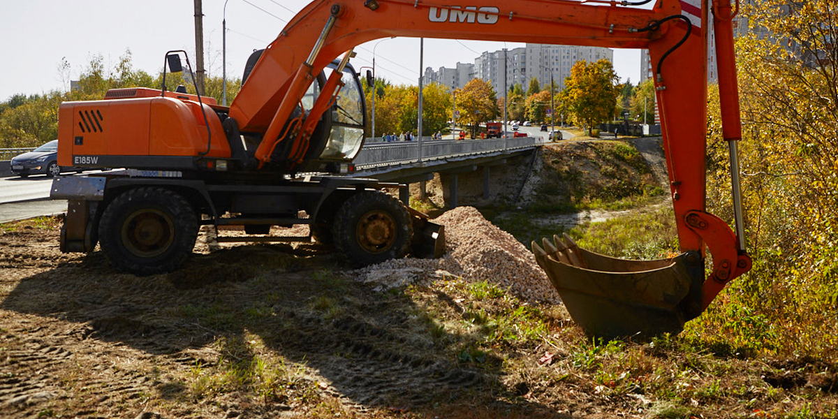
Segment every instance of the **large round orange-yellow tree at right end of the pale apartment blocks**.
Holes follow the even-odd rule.
[[[594,124],[608,121],[617,105],[618,80],[608,59],[592,64],[578,61],[573,65],[562,93],[573,119],[589,132]]]

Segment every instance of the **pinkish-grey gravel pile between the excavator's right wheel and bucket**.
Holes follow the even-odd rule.
[[[387,289],[450,275],[494,283],[529,302],[561,302],[535,256],[477,209],[458,207],[433,221],[445,225],[445,256],[385,261],[354,271],[353,276]]]

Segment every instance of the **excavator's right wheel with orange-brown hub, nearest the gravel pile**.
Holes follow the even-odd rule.
[[[413,240],[411,216],[401,201],[362,191],[341,204],[332,225],[334,246],[355,266],[405,256]]]

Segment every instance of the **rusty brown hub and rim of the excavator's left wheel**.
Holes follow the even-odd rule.
[[[140,209],[122,223],[122,243],[136,256],[160,256],[173,241],[174,223],[158,209]]]

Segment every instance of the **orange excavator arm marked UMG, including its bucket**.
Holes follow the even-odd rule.
[[[270,44],[230,106],[242,132],[261,134],[260,164],[277,143],[298,158],[328,100],[288,135],[301,98],[323,68],[354,46],[391,36],[479,39],[649,49],[660,109],[670,192],[682,255],[620,261],[578,248],[569,238],[533,244],[536,260],[587,333],[604,337],[678,332],[733,278],[747,272],[739,208],[736,143],[741,137],[732,11],[726,0],[659,0],[649,10],[629,2],[482,0],[316,0]],[[648,3],[648,2],[643,2]],[[712,12],[712,13],[711,13]],[[712,15],[712,18],[711,18]],[[707,34],[715,27],[722,124],[731,143],[737,233],[705,211]],[[347,53],[345,59],[349,58]],[[321,95],[333,98],[338,82]],[[705,249],[712,271],[704,277]]]

